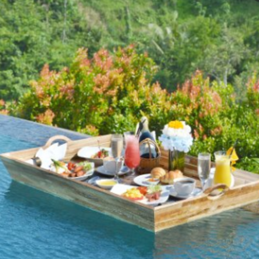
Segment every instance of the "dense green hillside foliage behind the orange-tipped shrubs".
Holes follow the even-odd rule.
[[[132,43],[170,92],[197,69],[242,91],[258,67],[257,8],[254,0],[1,1],[0,98],[17,100],[45,63],[69,66],[80,47],[92,57]]]

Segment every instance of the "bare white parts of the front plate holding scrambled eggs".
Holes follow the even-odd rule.
[[[127,185],[127,184],[116,184],[111,188],[111,192],[121,195],[122,193],[126,192],[128,189],[134,188],[136,186]],[[163,188],[163,191],[161,192],[161,196],[158,200],[149,202],[147,198],[143,198],[143,200],[137,200],[136,202],[140,202],[146,205],[156,206],[158,204],[164,203],[168,200],[170,192]]]

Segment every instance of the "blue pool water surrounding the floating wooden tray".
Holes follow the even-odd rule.
[[[85,136],[0,116],[0,153]],[[0,258],[257,258],[259,215],[235,209],[157,234],[12,181],[0,161]]]

